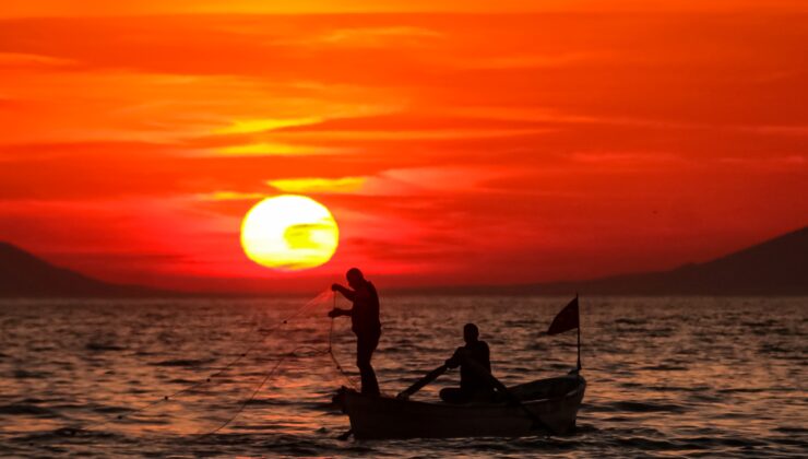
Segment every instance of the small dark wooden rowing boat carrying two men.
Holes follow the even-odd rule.
[[[516,437],[571,432],[585,389],[586,380],[573,370],[509,388],[520,403],[424,402],[363,396],[345,388],[335,401],[350,419],[357,439]]]

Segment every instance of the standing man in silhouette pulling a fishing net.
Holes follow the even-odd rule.
[[[376,372],[370,365],[370,357],[379,345],[381,322],[379,321],[379,294],[372,283],[357,268],[350,268],[345,275],[348,280],[347,289],[340,284],[331,285],[331,290],[340,292],[354,303],[350,309],[334,308],[329,317],[350,316],[350,329],[356,334],[356,366],[361,375],[361,393],[379,395],[379,382]]]

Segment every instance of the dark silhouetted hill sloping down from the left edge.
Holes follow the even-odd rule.
[[[136,285],[118,285],[59,268],[8,243],[0,243],[0,297],[162,296]]]

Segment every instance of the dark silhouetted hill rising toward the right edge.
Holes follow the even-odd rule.
[[[512,295],[808,295],[808,226],[704,263],[670,271],[432,292]],[[421,292],[426,293],[426,292]]]

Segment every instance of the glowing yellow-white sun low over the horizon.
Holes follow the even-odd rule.
[[[298,271],[326,263],[336,250],[340,228],[325,205],[311,198],[283,195],[256,204],[241,223],[247,257],[266,268]]]

